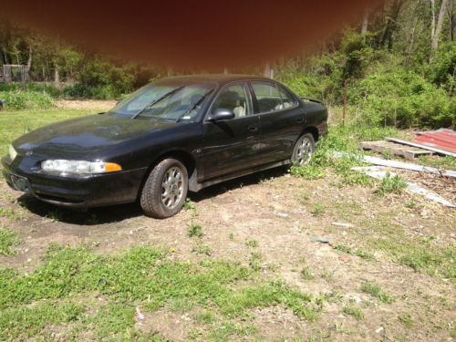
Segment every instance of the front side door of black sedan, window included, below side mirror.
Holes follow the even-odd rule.
[[[199,181],[243,171],[258,165],[260,118],[254,115],[252,95],[246,82],[225,86],[207,115],[230,109],[234,119],[203,122],[202,171]],[[206,117],[207,117],[206,115]]]

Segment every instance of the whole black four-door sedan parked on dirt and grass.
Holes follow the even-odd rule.
[[[139,201],[152,217],[187,192],[280,165],[305,165],[327,111],[267,78],[192,76],[151,83],[106,113],[15,140],[2,159],[14,189],[81,208]]]

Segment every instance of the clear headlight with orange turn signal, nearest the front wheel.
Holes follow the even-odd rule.
[[[104,161],[66,161],[53,160],[42,161],[43,171],[73,173],[73,174],[93,174],[122,171],[119,164]]]

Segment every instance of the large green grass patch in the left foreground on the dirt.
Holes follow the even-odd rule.
[[[49,324],[68,323],[97,339],[130,339],[140,334],[134,329],[135,306],[143,312],[167,305],[192,310],[181,305],[184,302],[211,310],[222,317],[223,325],[247,316],[255,307],[275,305],[284,305],[309,320],[318,317],[322,298],[279,281],[256,280],[248,285],[246,282],[254,280],[253,272],[223,260],[170,261],[161,250],[149,247],[102,255],[86,246],[54,244],[44,264],[29,274],[0,270],[0,339],[44,336]],[[78,298],[84,298],[83,304]],[[211,334],[218,336],[221,332],[216,330]]]

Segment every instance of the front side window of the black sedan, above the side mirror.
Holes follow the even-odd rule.
[[[212,113],[217,109],[233,110],[236,118],[252,114],[252,102],[246,84],[235,84],[223,88],[212,105]]]

